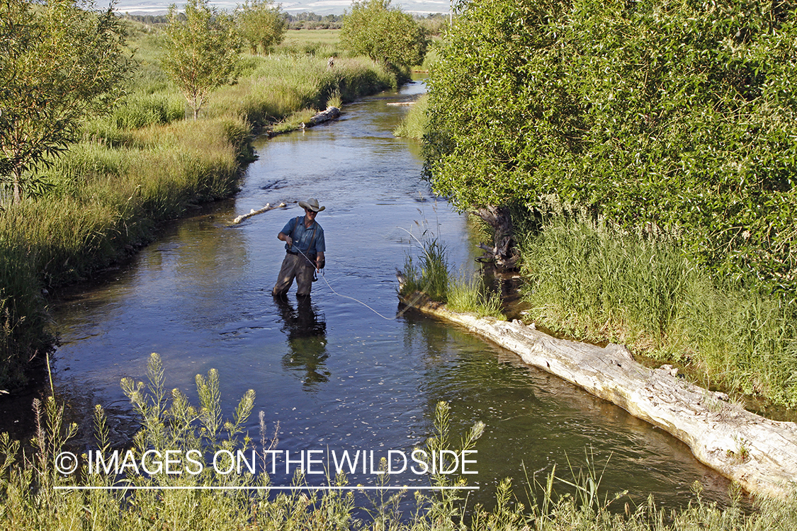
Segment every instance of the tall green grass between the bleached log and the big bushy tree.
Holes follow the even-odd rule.
[[[555,217],[520,237],[528,318],[690,365],[704,385],[797,406],[797,315],[709,273],[673,238]]]

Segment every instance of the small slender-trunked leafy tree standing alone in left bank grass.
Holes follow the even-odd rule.
[[[161,63],[197,119],[207,95],[237,77],[238,34],[232,17],[218,12],[208,0],[188,0],[182,17],[172,4],[168,17]]]

